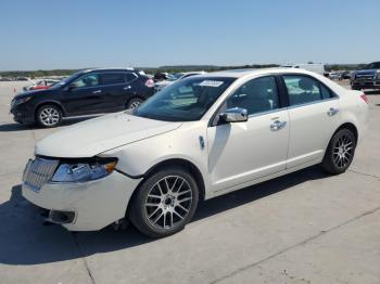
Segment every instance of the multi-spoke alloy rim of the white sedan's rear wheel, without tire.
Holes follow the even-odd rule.
[[[345,168],[354,156],[354,141],[351,137],[342,134],[333,147],[333,162],[338,168]]]

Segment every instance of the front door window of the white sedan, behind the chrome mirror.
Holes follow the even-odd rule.
[[[249,115],[279,108],[275,77],[263,77],[245,82],[227,100],[226,107],[242,107]]]

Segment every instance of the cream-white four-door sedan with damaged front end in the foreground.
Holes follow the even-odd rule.
[[[68,230],[128,218],[151,237],[167,236],[185,228],[200,201],[316,164],[344,172],[367,103],[363,92],[301,69],[191,76],[137,109],[38,142],[23,196]]]

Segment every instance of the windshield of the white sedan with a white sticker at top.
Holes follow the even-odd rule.
[[[199,120],[235,80],[226,77],[189,77],[157,92],[134,114],[165,121]]]

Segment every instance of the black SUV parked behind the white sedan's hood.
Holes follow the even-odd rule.
[[[11,113],[22,124],[55,127],[63,117],[136,108],[154,93],[154,81],[132,68],[86,69],[50,89],[14,96]]]

